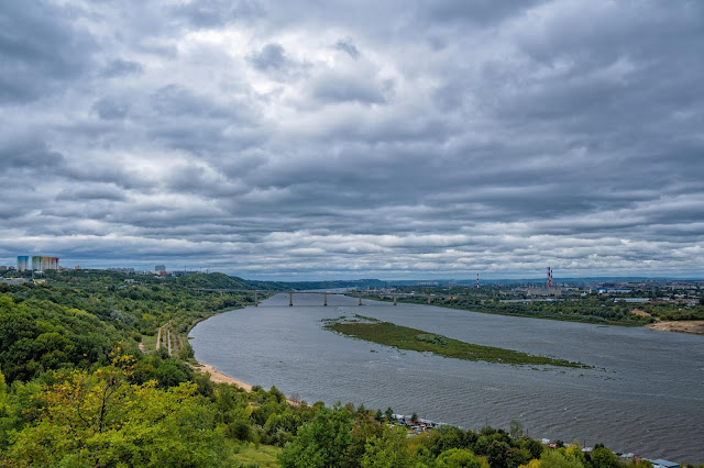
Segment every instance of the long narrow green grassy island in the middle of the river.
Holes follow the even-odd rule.
[[[392,346],[397,349],[429,352],[439,356],[452,357],[455,359],[484,360],[487,363],[590,367],[581,363],[573,363],[565,359],[532,356],[513,349],[464,343],[459,339],[448,338],[446,336],[396,325],[389,322],[344,322],[340,319],[326,322],[326,325],[323,325],[326,330],[330,330],[345,336],[377,343],[380,345]]]

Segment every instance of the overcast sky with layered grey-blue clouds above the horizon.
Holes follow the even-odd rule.
[[[704,277],[704,2],[0,2],[0,265]]]

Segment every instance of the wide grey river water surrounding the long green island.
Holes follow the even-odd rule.
[[[196,358],[309,403],[370,409],[480,428],[520,421],[547,437],[650,458],[704,463],[704,336],[490,315],[330,296],[275,296],[190,333]],[[396,350],[321,328],[361,314],[481,345],[594,369],[471,363]]]

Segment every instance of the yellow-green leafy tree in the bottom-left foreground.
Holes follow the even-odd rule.
[[[8,458],[35,466],[212,466],[224,431],[195,383],[167,390],[130,383],[127,356],[87,374],[57,374],[35,394],[36,421],[19,431]]]

